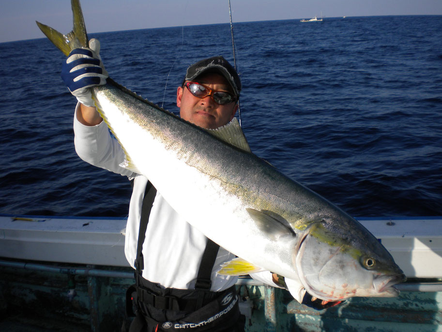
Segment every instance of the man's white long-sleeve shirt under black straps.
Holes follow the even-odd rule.
[[[79,104],[77,104],[76,112]],[[134,267],[137,254],[137,241],[141,205],[147,178],[120,166],[124,152],[107,125],[82,125],[74,116],[75,149],[84,161],[111,172],[134,179],[134,188],[129,205],[126,225],[124,252],[129,264]],[[148,148],[146,153],[149,153]],[[194,289],[202,254],[206,247],[206,237],[191,226],[168,204],[159,192],[156,193],[146,237],[143,244],[143,278],[163,287]],[[212,270],[212,291],[222,291],[234,285],[236,276],[217,274],[222,263],[235,258],[223,248],[219,248]],[[257,273],[253,277],[267,284],[272,282],[271,273]]]

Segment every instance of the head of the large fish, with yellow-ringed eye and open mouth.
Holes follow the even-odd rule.
[[[345,222],[323,218],[305,230],[294,256],[305,290],[328,301],[397,296],[394,285],[406,280],[403,271],[381,243],[353,221],[344,229]]]

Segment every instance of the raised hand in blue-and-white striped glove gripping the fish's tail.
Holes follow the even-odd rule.
[[[100,42],[92,38],[90,48],[76,48],[61,66],[61,79],[72,95],[85,106],[95,106],[91,87],[106,84],[109,76],[101,62]]]

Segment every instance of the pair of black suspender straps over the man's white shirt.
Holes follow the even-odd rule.
[[[132,180],[133,181],[133,180]],[[151,213],[152,204],[155,199],[156,189],[150,181],[147,182],[144,191],[143,203],[141,207],[141,218],[138,231],[137,257],[135,259],[135,282],[139,285],[138,278],[141,277],[141,271],[144,269],[144,259],[142,247],[146,237],[147,223]],[[212,281],[210,279],[215,259],[218,254],[219,245],[210,238],[207,239],[206,249],[202,255],[201,264],[199,265],[197,280],[195,281],[195,289],[210,290]]]

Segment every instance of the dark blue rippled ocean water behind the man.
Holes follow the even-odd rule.
[[[174,112],[189,64],[233,63],[229,24],[90,37],[113,79]],[[255,154],[353,216],[442,215],[442,16],[234,23],[234,37]],[[0,44],[0,213],[126,216],[127,179],[76,156],[63,60],[46,38]]]

